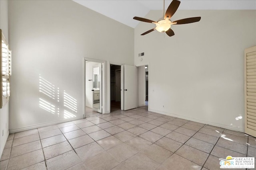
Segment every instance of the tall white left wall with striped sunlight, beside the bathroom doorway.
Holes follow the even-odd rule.
[[[64,90],[76,99],[72,114],[82,118],[84,57],[134,63],[134,29],[73,1],[10,1],[9,33],[11,132],[65,120]],[[59,102],[39,92],[39,76],[59,88]],[[39,98],[59,115],[40,108]]]

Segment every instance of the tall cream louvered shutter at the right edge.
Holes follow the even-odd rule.
[[[256,46],[244,50],[245,133],[256,137]]]

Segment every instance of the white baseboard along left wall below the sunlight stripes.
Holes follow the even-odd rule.
[[[56,125],[56,124],[59,124],[59,123],[64,123],[64,122],[68,122],[68,121],[74,121],[74,120],[83,119],[83,118],[84,118],[83,116],[80,116],[80,117],[74,117],[74,118],[70,118],[70,119],[51,121],[51,122],[48,122],[48,123],[40,123],[40,124],[37,124],[37,125],[21,127],[21,128],[18,128],[18,129],[11,129],[10,133],[17,133],[17,132],[27,131],[27,130],[36,129],[36,128],[39,128],[39,127]]]

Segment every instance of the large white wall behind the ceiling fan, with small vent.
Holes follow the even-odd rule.
[[[166,115],[244,131],[244,49],[256,45],[255,10],[178,10],[172,21],[201,16],[201,21],[172,25],[168,37],[139,23],[134,62],[150,63],[150,109]],[[145,17],[158,20],[162,11]],[[139,61],[138,53],[145,53]],[[162,105],[165,107],[163,108]]]

